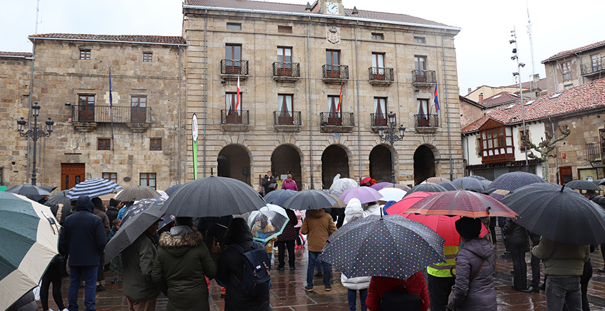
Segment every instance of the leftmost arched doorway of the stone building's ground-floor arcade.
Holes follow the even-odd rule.
[[[242,146],[230,144],[218,153],[218,176],[235,178],[250,185],[250,156]]]

